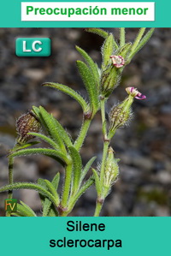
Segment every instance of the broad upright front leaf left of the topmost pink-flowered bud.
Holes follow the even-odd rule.
[[[81,61],[77,61],[77,67],[80,72],[80,76],[85,84],[86,91],[88,92],[91,108],[93,114],[98,110],[98,89],[94,79],[93,74],[91,73],[90,68]]]

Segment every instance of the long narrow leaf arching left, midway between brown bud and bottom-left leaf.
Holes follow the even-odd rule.
[[[68,164],[68,157],[63,154],[60,151],[49,149],[49,148],[31,148],[31,149],[24,149],[18,152],[13,152],[10,154],[11,157],[22,157],[27,155],[35,155],[35,154],[41,154],[48,156],[50,158],[55,158],[58,161],[58,158],[60,158],[64,163]]]

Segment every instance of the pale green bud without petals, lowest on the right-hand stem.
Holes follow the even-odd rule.
[[[110,188],[113,182],[115,182],[116,177],[119,174],[119,159],[115,159],[113,148],[110,146],[108,151],[108,157],[106,159],[106,167],[104,173],[104,186]]]

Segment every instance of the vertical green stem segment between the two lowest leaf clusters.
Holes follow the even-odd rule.
[[[72,182],[72,170],[73,170],[73,164],[68,164],[65,172],[65,182],[64,182],[64,188],[62,193],[62,208],[67,207],[67,204],[68,204],[68,196],[69,196],[69,191],[70,191],[71,182]]]

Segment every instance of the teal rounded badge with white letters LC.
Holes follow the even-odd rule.
[[[18,38],[15,41],[15,54],[18,57],[49,57],[51,40],[48,38]]]

